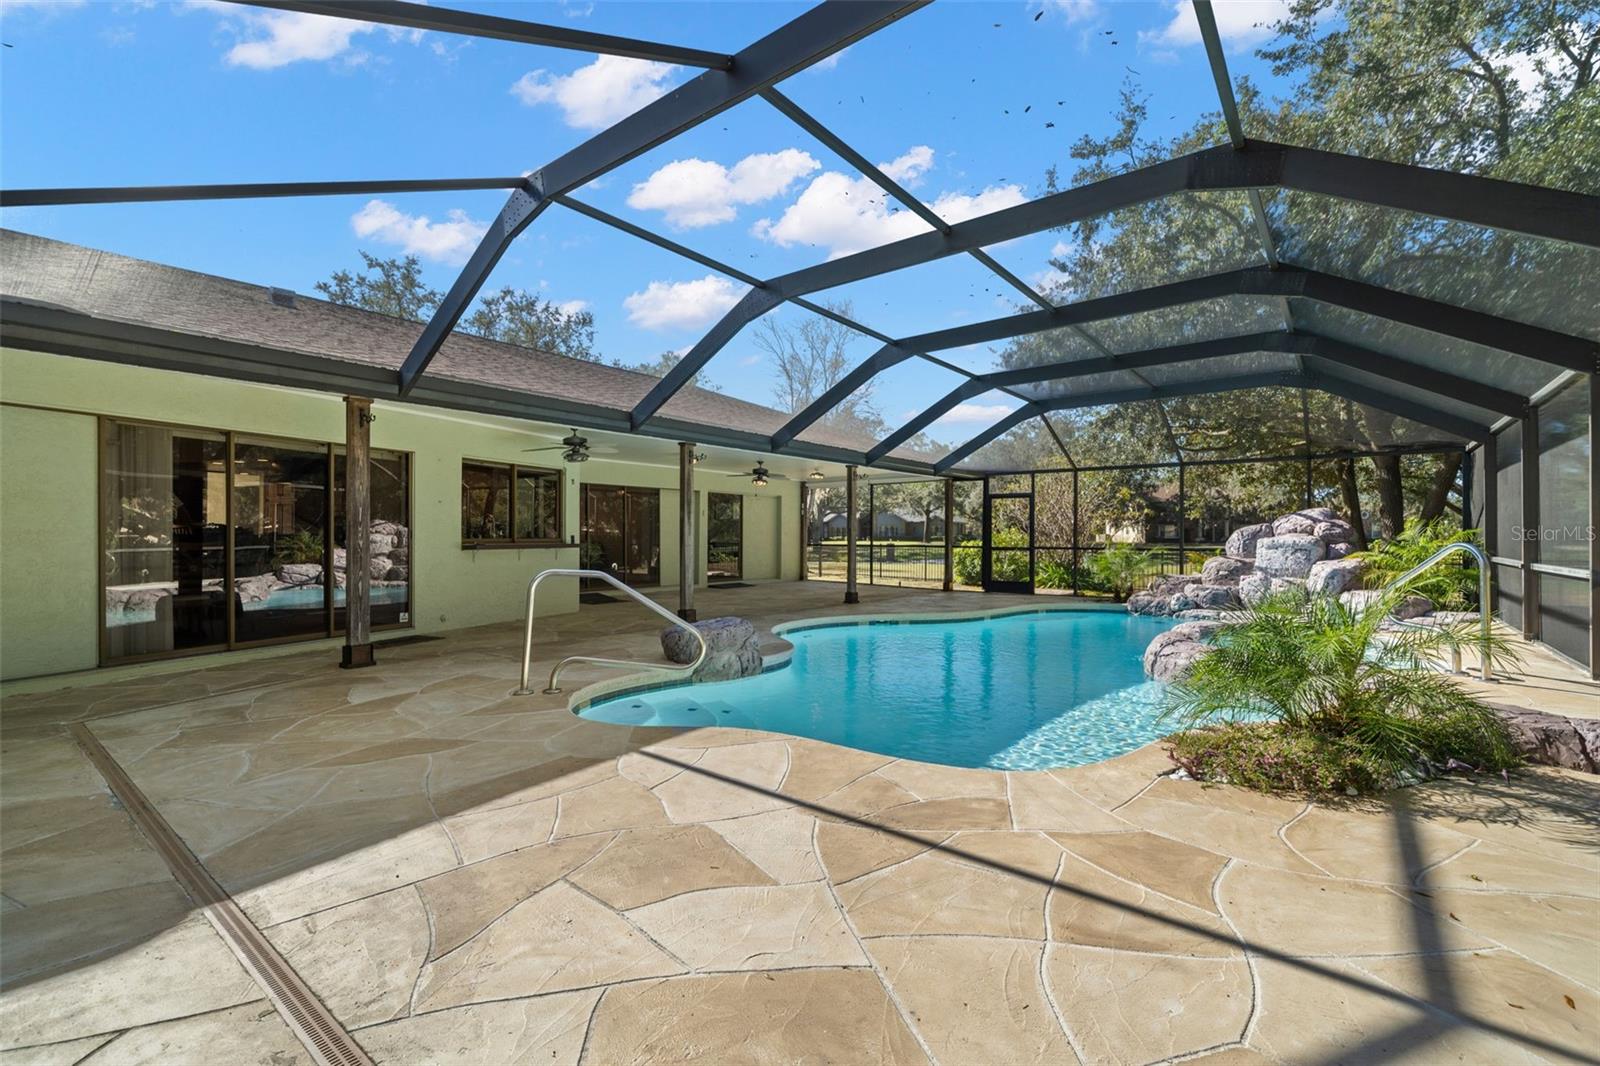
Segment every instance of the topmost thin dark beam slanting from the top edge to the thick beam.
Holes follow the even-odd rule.
[[[459,34],[462,37],[509,40],[518,45],[546,45],[549,48],[592,51],[602,56],[627,56],[629,59],[677,62],[685,67],[726,70],[733,66],[733,56],[720,51],[683,48],[678,45],[658,45],[654,42],[634,40],[630,37],[590,34],[587,30],[574,30],[565,26],[523,22],[522,19],[506,19],[498,14],[478,14],[477,11],[451,11],[450,8],[435,8],[426,3],[403,3],[402,0],[229,2],[246,3],[253,8],[275,8],[278,11],[302,11],[307,14],[323,14],[336,19],[378,22],[379,26],[403,26],[406,29],[438,30],[443,34]]]

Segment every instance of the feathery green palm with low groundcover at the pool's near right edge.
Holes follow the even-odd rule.
[[[1174,759],[1200,778],[1306,791],[1371,791],[1453,759],[1515,765],[1494,712],[1440,669],[1456,650],[1504,663],[1512,647],[1470,623],[1386,626],[1405,592],[1365,610],[1278,595],[1235,611],[1166,690],[1163,714],[1186,730]]]

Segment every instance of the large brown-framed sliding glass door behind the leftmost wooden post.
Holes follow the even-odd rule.
[[[373,626],[406,624],[410,461],[371,464]],[[104,663],[342,631],[342,448],[102,419],[101,471]]]

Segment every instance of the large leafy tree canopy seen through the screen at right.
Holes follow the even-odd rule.
[[[1248,136],[1600,190],[1600,13],[1592,3],[1296,0],[1258,54],[1272,67],[1269,83],[1235,82]],[[1174,136],[1150,133],[1149,118],[1149,98],[1130,78],[1109,131],[1080,136],[1070,149],[1070,176],[1062,181],[1061,170],[1051,168],[1045,189],[1082,186],[1227,141],[1219,109]],[[1600,307],[1582,291],[1590,283],[1582,279],[1594,277],[1592,253],[1307,194],[1272,195],[1267,213],[1278,254],[1288,262],[1568,331],[1600,333]],[[1058,303],[1264,261],[1243,192],[1186,192],[1085,219],[1062,230],[1056,251],[1048,295]],[[1254,296],[1096,322],[1086,331],[1099,347],[1128,352],[1296,323],[1382,346],[1373,341],[1382,323],[1299,299]],[[1461,357],[1491,357],[1488,349],[1427,341]],[[1018,338],[998,359],[1014,368],[1098,354],[1082,333],[1058,330]],[[1226,376],[1269,367],[1269,357],[1240,355],[1210,360],[1206,370]],[[1077,378],[1066,384],[1088,392],[1138,381],[1123,371],[1104,383]],[[1042,387],[1038,395],[1048,399],[1053,389]],[[1094,466],[1173,461],[1179,455],[1195,461],[1366,451],[1438,437],[1387,411],[1317,391],[1301,397],[1293,389],[1077,408],[1048,421],[1018,427],[973,463],[990,469],[1061,466],[1062,447],[1074,464]],[[1394,535],[1406,512],[1427,519],[1448,506],[1458,458],[1386,455],[1318,464],[1314,491],[1341,511],[1366,501],[1378,514],[1378,531]],[[1160,480],[1152,471],[1122,475],[1123,495],[1147,498],[1150,483]],[[1304,480],[1304,463],[1192,466],[1190,515],[1197,507],[1245,515],[1298,506]]]

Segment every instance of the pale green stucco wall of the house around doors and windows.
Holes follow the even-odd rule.
[[[344,439],[344,405],[336,395],[14,349],[0,349],[0,679],[6,680],[96,666],[96,415],[264,437]],[[530,431],[552,427],[389,402],[374,411],[373,447],[413,456],[411,619],[418,632],[518,618],[533,575],[576,567],[584,482],[662,490],[662,586],[677,584],[672,442],[650,442],[659,445],[659,463],[594,458],[566,467],[563,539],[571,547],[470,551],[461,547],[461,461],[550,466],[549,453],[528,456],[523,450],[549,443]],[[718,491],[741,491],[738,479],[717,477]],[[744,488],[776,511],[795,514],[798,487],[792,482]],[[702,531],[704,491],[696,491],[696,507]],[[798,573],[798,544],[784,546],[776,530],[771,543],[752,546],[750,538],[747,530],[747,551],[776,554],[787,547],[795,555],[773,567],[771,576]],[[702,535],[699,541],[698,579],[704,581]],[[539,597],[541,613],[578,610],[573,581],[547,583]]]

